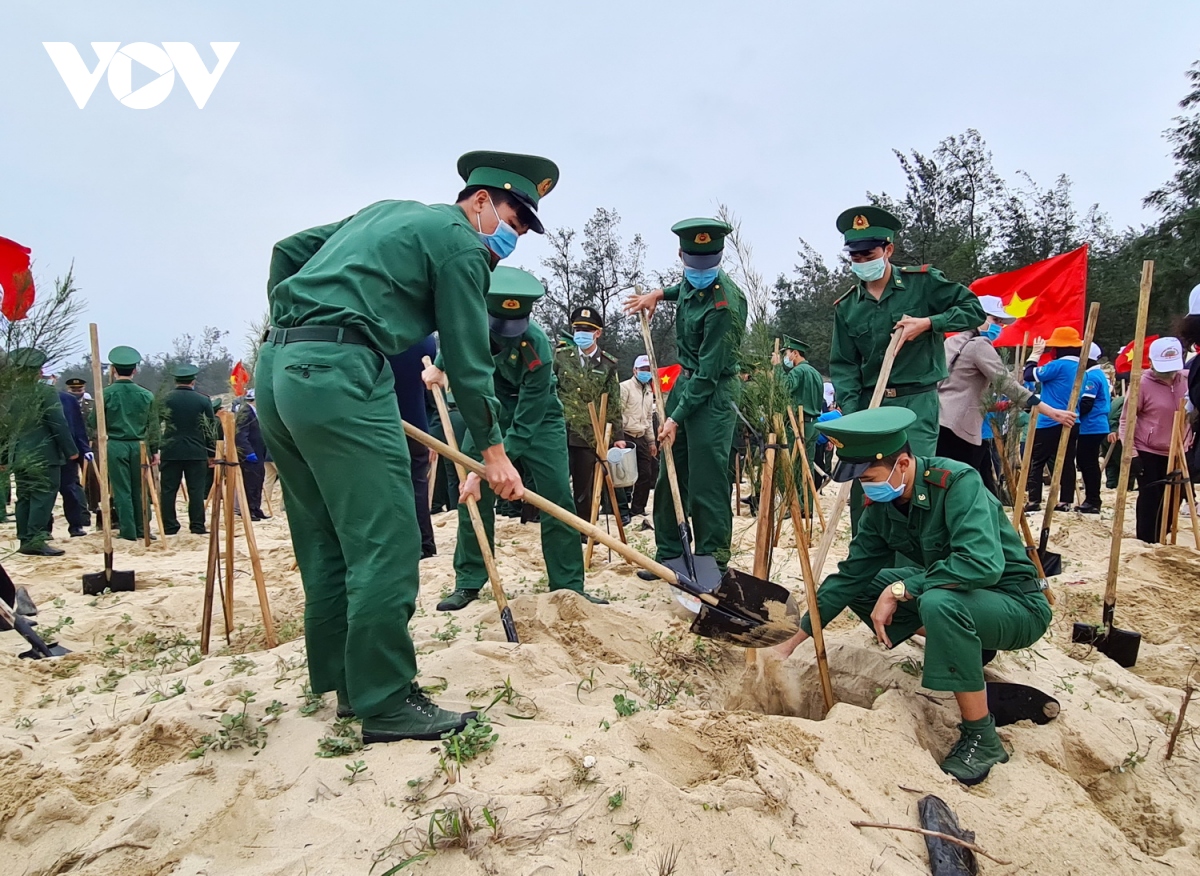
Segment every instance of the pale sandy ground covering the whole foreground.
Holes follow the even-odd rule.
[[[748,670],[744,652],[691,636],[664,586],[602,550],[588,587],[611,606],[545,593],[536,524],[502,520],[500,571],[521,636],[509,644],[491,601],[433,611],[452,586],[454,515],[436,517],[439,554],[421,565],[420,680],[458,708],[487,706],[508,686],[490,712],[494,745],[452,784],[437,743],[318,757],[335,737],[332,696],[301,714],[302,593],[284,518],[257,534],[289,641],[263,649],[239,539],[233,643],[217,637],[205,659],[196,648],[204,536],[118,542],[116,566],[136,570],[138,588],[101,598],[79,587],[102,568],[101,538],[64,536],[61,559],[5,560],[43,629],[73,619],[59,638],[74,653],[18,660],[23,641],[0,634],[0,872],[385,874],[424,853],[395,872],[916,875],[929,872],[919,836],[851,821],[916,826],[917,800],[935,793],[1012,862],[982,860],[985,874],[1200,874],[1200,706],[1175,757],[1163,757],[1200,644],[1200,553],[1187,529],[1175,547],[1127,539],[1117,620],[1145,642],[1126,671],[1069,641],[1073,620],[1099,619],[1110,515],[1058,520],[1067,569],[1055,623],[989,674],[1052,691],[1062,713],[1003,728],[1012,760],[976,788],[937,767],[956,709],[911,674],[919,642],[889,653],[847,617],[834,623],[840,702],[824,715],[810,646]],[[1127,522],[1132,536],[1132,512]],[[0,528],[11,538],[12,524]],[[632,540],[653,544],[652,533]],[[734,565],[749,568],[752,542],[743,517]],[[798,588],[791,545],[788,532],[773,577]],[[845,550],[842,535],[829,569]],[[618,714],[614,697],[637,710]],[[188,757],[244,709],[265,746]],[[365,769],[352,784],[356,762]]]

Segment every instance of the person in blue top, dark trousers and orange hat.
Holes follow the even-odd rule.
[[[1066,325],[1060,325],[1048,338],[1037,338],[1030,350],[1030,358],[1025,362],[1025,379],[1036,380],[1042,384],[1042,401],[1060,410],[1067,409],[1070,401],[1070,390],[1075,385],[1075,372],[1079,368],[1079,352],[1084,346],[1084,338],[1079,331]],[[1045,350],[1054,354],[1054,359],[1042,367],[1038,360]],[[1051,420],[1045,414],[1039,414],[1033,433],[1033,462],[1030,466],[1028,504],[1026,511],[1042,510],[1042,480],[1048,466],[1052,466],[1058,452],[1058,442],[1062,437],[1062,426]],[[1058,504],[1056,511],[1069,511],[1072,500],[1075,498],[1075,444],[1079,438],[1079,424],[1070,430],[1070,438],[1067,443],[1067,457],[1062,464],[1062,480],[1058,486]]]

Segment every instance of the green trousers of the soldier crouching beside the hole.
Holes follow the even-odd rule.
[[[880,594],[894,582],[924,571],[924,566],[883,569],[848,607],[874,631],[871,612]],[[888,638],[894,647],[924,626],[922,685],[930,690],[983,690],[983,650],[1028,648],[1050,625],[1050,604],[1037,589],[1036,581],[1030,581],[1030,588],[1028,593],[1013,594],[934,587],[896,606],[887,628]],[[833,618],[822,620],[829,623]]]

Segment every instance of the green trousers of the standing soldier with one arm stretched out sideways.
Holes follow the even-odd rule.
[[[737,413],[730,403],[733,398],[730,383],[722,382],[708,403],[697,408],[686,422],[679,424],[670,448],[679,475],[683,510],[691,518],[695,552],[715,559],[721,571],[730,562],[730,542],[733,540],[730,446],[733,444]],[[667,398],[667,416],[671,416],[682,395],[672,392]],[[659,468],[659,481],[654,487],[654,538],[658,544],[654,558],[658,562],[683,554],[666,464]]]

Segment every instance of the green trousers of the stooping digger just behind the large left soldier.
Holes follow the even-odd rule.
[[[554,404],[557,407],[557,403]],[[502,416],[506,420],[506,416]],[[526,486],[550,499],[559,508],[575,510],[571,498],[570,467],[566,461],[566,421],[560,413],[542,420],[538,430],[538,444],[528,456],[520,457]],[[463,452],[482,458],[470,434],[463,442]],[[515,462],[515,461],[514,461]],[[487,544],[496,545],[496,493],[486,482],[480,485],[479,516],[487,530]],[[546,563],[546,576],[551,590],[575,590],[583,593],[583,550],[580,534],[562,521],[542,511],[541,557]],[[479,539],[470,524],[467,503],[458,505],[458,544],[454,550],[455,589],[478,590],[487,583],[487,569],[479,550]]]

